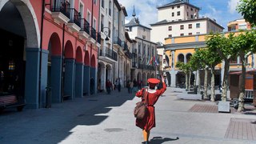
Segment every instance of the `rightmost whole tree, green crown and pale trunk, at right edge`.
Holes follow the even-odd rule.
[[[238,34],[234,38],[233,45],[237,51],[238,56],[242,62],[242,77],[240,79],[239,97],[238,97],[238,112],[244,110],[244,95],[245,95],[245,83],[246,83],[246,65],[247,58],[254,54],[256,51],[256,32],[255,30],[246,31],[245,33]]]

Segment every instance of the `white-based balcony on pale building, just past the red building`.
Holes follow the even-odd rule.
[[[106,50],[99,50],[99,60],[105,61],[105,62],[110,62],[110,63],[115,63],[118,61],[118,54],[109,48]]]

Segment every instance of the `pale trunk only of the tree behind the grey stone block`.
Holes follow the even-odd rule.
[[[227,95],[227,80],[230,72],[230,60],[225,60],[224,66],[224,78],[223,78],[223,86],[222,86],[222,101],[226,102]]]

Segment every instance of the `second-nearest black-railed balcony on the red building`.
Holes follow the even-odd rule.
[[[70,8],[70,22],[68,22],[67,27],[74,32],[79,32],[81,30],[81,15],[78,10]]]

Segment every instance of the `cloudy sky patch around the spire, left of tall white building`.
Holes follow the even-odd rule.
[[[157,6],[162,6],[166,4],[167,0],[162,0],[159,2],[158,0],[118,0],[122,6],[126,7],[128,13],[128,22],[131,19],[131,14],[135,6],[136,17],[139,18],[139,21],[142,25],[150,26],[150,24],[157,22],[158,20],[158,10]]]

